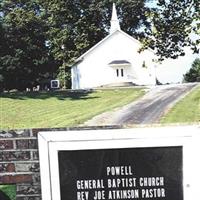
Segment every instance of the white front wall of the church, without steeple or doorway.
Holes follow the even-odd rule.
[[[117,82],[116,68],[108,65],[113,60],[127,60],[131,63],[131,67],[125,67],[125,74],[129,77],[126,81],[138,85],[155,84],[153,53],[146,50],[139,54],[138,49],[137,41],[121,32],[115,32],[86,54],[76,70],[72,68],[72,88],[77,89],[78,85],[81,89],[92,88]],[[148,68],[142,68],[143,61]],[[79,84],[76,83],[77,78],[74,78],[77,71],[80,75]]]

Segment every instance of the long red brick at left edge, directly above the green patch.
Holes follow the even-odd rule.
[[[31,175],[5,175],[0,176],[1,184],[12,184],[12,183],[30,183],[32,182]]]

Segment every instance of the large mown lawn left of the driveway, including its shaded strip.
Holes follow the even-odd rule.
[[[139,88],[2,94],[0,129],[76,126],[143,94]]]

